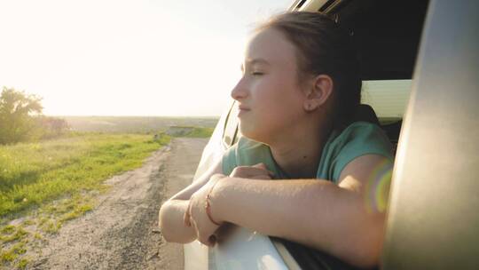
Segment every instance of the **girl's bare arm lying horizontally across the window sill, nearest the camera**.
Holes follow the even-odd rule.
[[[324,180],[222,179],[214,218],[324,250],[357,266],[377,261],[383,216],[361,195]]]

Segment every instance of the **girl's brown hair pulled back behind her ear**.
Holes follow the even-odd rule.
[[[296,47],[298,79],[325,74],[334,81],[334,127],[352,121],[361,99],[357,52],[349,32],[318,12],[286,12],[257,28],[279,30]]]

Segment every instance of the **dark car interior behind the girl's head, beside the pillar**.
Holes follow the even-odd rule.
[[[428,1],[363,0],[327,1],[319,12],[326,12],[353,35],[363,81],[382,81],[412,79],[427,10]],[[397,147],[402,117],[388,123],[375,116],[363,105],[356,119],[381,123]]]

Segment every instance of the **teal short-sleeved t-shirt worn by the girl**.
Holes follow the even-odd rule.
[[[392,145],[381,128],[373,123],[355,122],[340,131],[333,131],[323,147],[318,164],[317,179],[337,183],[342,169],[361,155],[375,154],[394,159]],[[275,173],[275,179],[287,179],[274,161],[270,147],[255,140],[241,137],[234,146],[224,153],[223,173],[229,175],[235,167],[264,163]]]

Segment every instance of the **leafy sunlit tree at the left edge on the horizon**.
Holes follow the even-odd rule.
[[[24,91],[3,88],[0,95],[0,144],[31,139],[37,127],[35,116],[42,115],[41,100]]]

